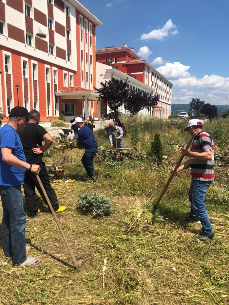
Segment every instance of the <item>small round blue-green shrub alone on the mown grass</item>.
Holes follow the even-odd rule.
[[[108,216],[112,212],[110,199],[97,193],[86,192],[78,198],[79,210],[93,217]]]

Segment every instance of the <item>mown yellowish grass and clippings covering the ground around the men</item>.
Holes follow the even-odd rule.
[[[97,140],[107,144],[103,133]],[[41,213],[27,218],[26,238],[32,246],[29,255],[42,257],[42,262],[30,269],[13,269],[10,261],[1,266],[0,304],[228,304],[227,184],[216,179],[206,197],[213,241],[199,242],[201,226],[185,220],[190,208],[188,171],[173,179],[152,214],[172,163],[179,158],[179,150],[169,147],[171,159],[168,156],[162,166],[96,158],[98,183],[85,179],[83,151],[68,151],[65,178],[77,181],[52,185],[60,205],[67,206],[57,217],[75,257],[83,255],[81,272],[73,268],[52,215],[39,203]],[[61,158],[55,152],[45,161],[60,165]],[[95,219],[80,214],[77,200],[85,192],[109,197],[111,215]],[[3,250],[0,262],[5,262]]]

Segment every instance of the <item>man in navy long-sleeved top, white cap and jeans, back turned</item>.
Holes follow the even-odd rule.
[[[98,150],[98,143],[93,135],[93,132],[88,126],[84,126],[81,117],[75,118],[76,126],[78,129],[78,142],[77,145],[81,145],[85,148],[85,153],[82,156],[82,163],[87,172],[88,178],[92,178],[93,181],[97,180],[96,172],[94,168],[94,156]]]

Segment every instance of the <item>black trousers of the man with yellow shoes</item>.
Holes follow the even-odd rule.
[[[55,193],[54,189],[52,188],[52,186],[49,182],[49,175],[48,175],[47,170],[45,168],[45,163],[42,162],[39,165],[41,167],[40,174],[39,174],[41,182],[42,182],[42,184],[44,186],[44,189],[45,189],[45,191],[46,191],[46,193],[49,197],[49,200],[50,200],[50,202],[53,206],[53,210],[54,211],[58,210],[59,209],[59,204],[58,204],[58,201],[57,201],[56,193]],[[46,205],[48,205],[35,174],[26,170],[23,188],[24,188],[24,193],[25,193],[25,198],[26,198],[26,201],[27,201],[27,205],[28,205],[29,216],[35,216],[37,211],[38,211],[38,204],[36,202],[35,187],[37,188],[38,192],[42,196],[42,199],[44,200],[44,203]]]

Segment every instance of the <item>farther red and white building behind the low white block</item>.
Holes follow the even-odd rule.
[[[167,119],[169,115],[171,115],[173,84],[147,61],[140,59],[133,48],[127,47],[127,44],[123,44],[123,47],[97,49],[96,62],[103,63],[110,68],[114,68],[115,70],[124,73],[126,76],[129,76],[128,80],[131,80],[130,77],[136,79],[146,85],[148,91],[150,87],[153,92],[152,94],[158,94],[160,98],[158,106],[154,108],[154,116]],[[98,77],[99,73],[97,72],[97,80]],[[104,105],[102,105],[102,107],[104,108]]]

